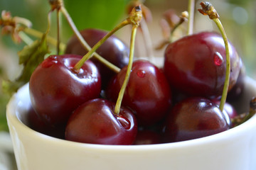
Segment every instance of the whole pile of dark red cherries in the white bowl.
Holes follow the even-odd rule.
[[[106,32],[87,29],[81,35],[92,47]],[[33,72],[29,82],[33,130],[75,142],[141,145],[192,140],[233,127],[230,119],[237,115],[233,106],[225,103],[223,112],[218,108],[226,68],[225,45],[218,33],[197,33],[170,43],[161,68],[134,60],[118,115],[114,106],[127,71],[129,47],[112,35],[97,49],[122,68],[117,74],[93,58],[75,72],[74,65],[86,52],[74,36],[65,55],[51,55]],[[228,96],[235,98],[245,72],[231,43],[230,67]]]

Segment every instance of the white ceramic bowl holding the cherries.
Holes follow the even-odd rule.
[[[235,107],[249,110],[256,82],[245,79],[245,91]],[[196,140],[159,145],[91,145],[59,140],[26,126],[30,105],[28,84],[7,106],[7,120],[18,169],[172,169],[255,170],[256,116],[225,132]]]

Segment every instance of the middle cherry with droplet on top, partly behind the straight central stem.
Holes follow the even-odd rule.
[[[124,67],[110,81],[106,96],[111,101],[117,101],[126,72],[127,67]],[[149,61],[134,61],[122,105],[134,111],[139,125],[159,122],[171,106],[171,89],[164,73]]]

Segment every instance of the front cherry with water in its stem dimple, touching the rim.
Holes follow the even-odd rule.
[[[137,135],[137,120],[132,111],[120,108],[114,114],[115,104],[96,98],[83,103],[70,116],[65,139],[104,145],[132,145]]]

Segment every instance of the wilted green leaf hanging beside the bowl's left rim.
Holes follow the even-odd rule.
[[[18,52],[19,64],[23,65],[21,75],[15,81],[5,80],[2,82],[2,87],[6,94],[13,94],[26,84],[34,69],[40,64],[46,54],[49,53],[48,45],[46,42],[46,35],[43,35],[41,40],[34,41],[31,45],[27,45]]]

